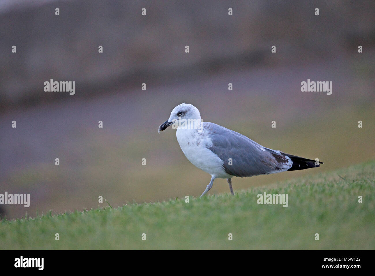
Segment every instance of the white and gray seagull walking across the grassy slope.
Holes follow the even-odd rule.
[[[186,158],[211,175],[211,181],[200,197],[212,188],[215,178],[226,178],[231,194],[234,195],[231,180],[233,176],[250,177],[304,170],[323,164],[318,160],[265,148],[236,131],[202,122],[199,110],[192,104],[182,103],[176,106],[169,119],[160,125],[158,132],[169,125],[177,129],[177,141]]]

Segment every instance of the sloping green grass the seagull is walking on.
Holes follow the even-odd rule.
[[[373,250],[374,172],[375,161],[369,161],[236,191],[235,196],[190,196],[189,203],[172,199],[4,220],[0,249]],[[264,191],[287,193],[289,206],[258,205],[257,194]],[[55,240],[55,233],[60,240]],[[314,239],[315,233],[320,240]]]

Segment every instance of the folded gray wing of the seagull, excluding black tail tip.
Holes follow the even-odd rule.
[[[207,148],[223,160],[223,168],[230,175],[245,177],[284,172],[293,164],[280,151],[264,148],[236,131],[213,123],[203,124],[205,133],[212,140]]]

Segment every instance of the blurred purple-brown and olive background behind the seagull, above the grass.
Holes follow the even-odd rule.
[[[31,201],[2,217],[199,196],[210,175],[175,130],[157,133],[183,102],[324,162],[234,178],[234,190],[374,159],[374,19],[374,1],[0,0],[0,193]],[[301,92],[308,78],[332,81],[332,95]],[[75,95],[45,92],[50,79],[75,81]],[[210,193],[229,193],[226,180]]]

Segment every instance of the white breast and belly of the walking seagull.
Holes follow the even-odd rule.
[[[223,169],[223,161],[206,147],[212,145],[212,141],[204,131],[177,128],[176,137],[182,152],[193,165],[214,178],[233,177]]]

